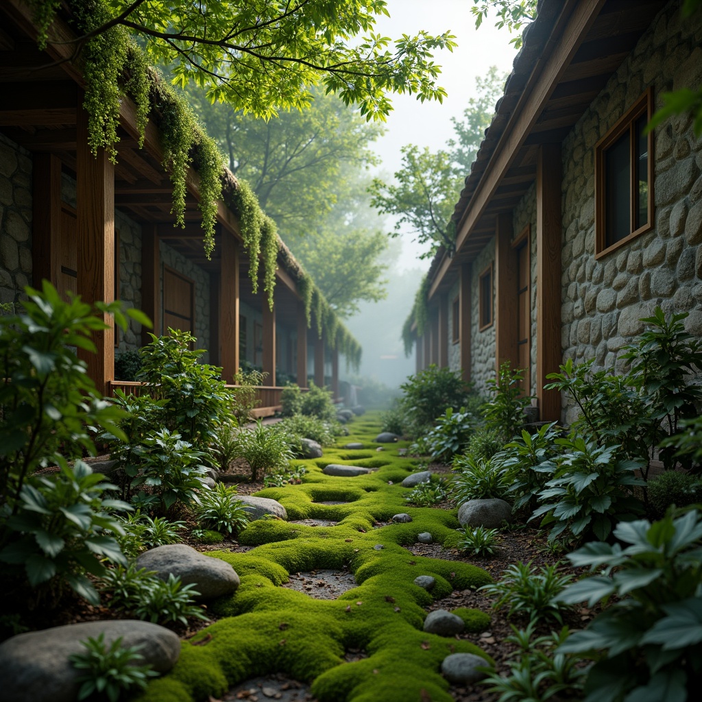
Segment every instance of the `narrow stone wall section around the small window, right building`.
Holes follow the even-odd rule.
[[[472,263],[470,299],[472,310],[470,315],[470,380],[475,383],[475,392],[487,394],[486,381],[495,377],[495,324],[479,331],[479,279],[480,274],[495,262],[495,237],[492,237],[485,248]],[[493,271],[493,300],[495,297],[495,276]],[[495,308],[493,304],[493,319]]]

